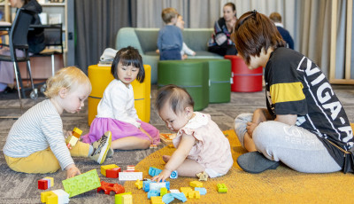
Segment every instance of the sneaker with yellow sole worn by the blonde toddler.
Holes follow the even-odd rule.
[[[96,142],[92,143],[94,150],[89,155],[89,157],[97,161],[97,163],[102,164],[107,156],[108,151],[110,150],[112,143],[112,132],[106,131],[104,135],[98,139]]]

